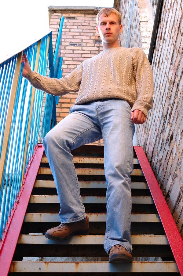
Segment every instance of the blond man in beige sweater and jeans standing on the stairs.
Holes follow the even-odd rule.
[[[60,221],[46,237],[67,239],[86,234],[88,217],[81,201],[71,150],[90,138],[104,140],[107,184],[107,219],[104,249],[109,262],[132,262],[130,240],[134,123],[143,124],[152,107],[153,79],[150,64],[140,48],[119,47],[121,15],[103,8],[97,15],[97,33],[103,51],[85,60],[61,79],[32,72],[23,57],[23,76],[38,89],[53,95],[78,92],[70,114],[43,140],[60,201]]]

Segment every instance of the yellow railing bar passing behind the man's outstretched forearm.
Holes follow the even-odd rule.
[[[35,59],[35,67],[34,70],[38,71],[38,63],[39,63],[39,55],[40,55],[40,49],[41,49],[41,40],[38,41],[38,47],[36,52],[36,59]],[[26,141],[25,141],[25,151],[24,151],[24,159],[23,159],[23,170],[22,170],[22,178],[21,178],[21,185],[23,183],[24,178],[24,172],[25,172],[25,163],[27,158],[27,148],[28,148],[28,142],[29,142],[29,132],[31,128],[31,119],[32,119],[32,110],[34,105],[34,96],[35,96],[35,88],[32,88],[32,95],[31,95],[31,105],[30,105],[30,113],[29,113],[29,120],[28,120],[28,126],[27,126],[27,135],[26,135]]]

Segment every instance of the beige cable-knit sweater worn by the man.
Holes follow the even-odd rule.
[[[31,70],[25,78],[35,88],[55,96],[79,91],[76,105],[119,98],[130,104],[131,111],[139,109],[146,117],[152,108],[152,70],[140,48],[104,50],[61,79],[44,77]]]

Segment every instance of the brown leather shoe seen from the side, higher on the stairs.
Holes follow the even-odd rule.
[[[48,229],[45,237],[50,240],[66,240],[73,235],[84,235],[89,232],[88,217],[82,220],[70,223],[61,223],[59,226]]]

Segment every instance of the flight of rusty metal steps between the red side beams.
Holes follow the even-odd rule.
[[[90,234],[63,241],[45,238],[46,230],[60,223],[60,205],[43,155],[9,275],[180,275],[135,151],[131,174],[133,263],[123,264],[109,264],[103,249],[104,149],[86,145],[72,153]]]

